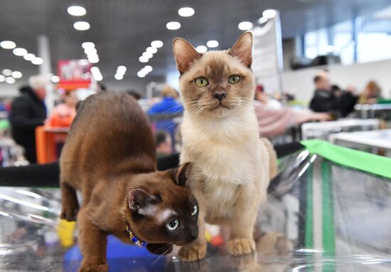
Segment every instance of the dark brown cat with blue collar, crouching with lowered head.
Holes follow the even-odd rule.
[[[107,271],[107,234],[146,241],[153,253],[194,241],[198,206],[185,187],[187,168],[156,172],[151,129],[130,95],[87,98],[60,157],[61,218],[74,221],[78,213],[80,271]],[[83,196],[80,211],[76,189]]]

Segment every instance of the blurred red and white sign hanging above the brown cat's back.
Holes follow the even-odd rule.
[[[91,85],[91,66],[87,60],[61,60],[57,63],[57,75],[60,78],[57,88],[74,90],[88,88]]]

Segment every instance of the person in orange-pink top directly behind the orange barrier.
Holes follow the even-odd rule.
[[[55,106],[48,120],[50,127],[70,127],[76,117],[77,97],[75,91],[63,91],[63,103]]]

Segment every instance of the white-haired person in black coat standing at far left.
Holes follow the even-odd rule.
[[[29,85],[21,87],[21,95],[11,103],[11,132],[15,142],[26,150],[31,163],[36,163],[36,127],[43,125],[46,118],[45,96],[48,79],[34,75]]]

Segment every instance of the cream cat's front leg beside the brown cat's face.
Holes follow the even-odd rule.
[[[198,237],[193,243],[182,246],[178,254],[182,261],[197,261],[205,258],[206,239],[205,239],[205,213],[206,206],[202,194],[193,192],[198,201]]]

